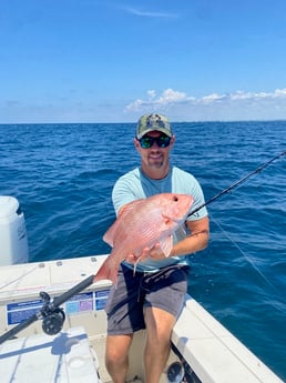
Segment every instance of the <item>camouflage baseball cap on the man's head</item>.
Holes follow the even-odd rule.
[[[144,114],[140,118],[136,129],[136,138],[140,140],[144,134],[152,132],[153,130],[157,130],[168,137],[173,137],[168,119],[163,114],[152,113]]]

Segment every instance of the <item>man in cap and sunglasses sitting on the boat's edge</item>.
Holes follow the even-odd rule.
[[[193,210],[204,203],[195,178],[170,164],[174,142],[175,135],[166,117],[153,113],[139,120],[134,144],[141,155],[141,167],[121,177],[113,188],[112,199],[118,214],[131,201],[164,192],[191,194],[195,200]],[[135,273],[135,255],[130,254],[122,263],[116,290],[112,288],[106,304],[105,362],[114,383],[125,381],[133,333],[141,329],[146,329],[145,382],[159,382],[187,290],[185,255],[203,250],[207,242],[208,218],[203,208],[191,214],[185,225],[175,232],[168,258],[157,244],[144,250],[144,261],[136,264]]]

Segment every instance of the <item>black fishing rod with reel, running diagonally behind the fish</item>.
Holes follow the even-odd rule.
[[[278,158],[280,158],[280,157],[285,155],[285,154],[286,154],[286,151],[279,153],[278,155],[274,157],[269,161],[263,163],[256,170],[254,170],[249,174],[245,175],[241,180],[236,181],[229,188],[223,190],[221,193],[216,194],[211,200],[208,200],[207,202],[203,203],[201,206],[198,206],[195,210],[193,210],[188,214],[188,216],[195,214],[202,208],[208,205],[210,203],[214,202],[215,200],[217,200],[222,195],[228,193],[234,188],[236,188],[239,184],[244,183],[248,178],[251,178],[252,175],[261,172],[263,169],[268,167],[272,162],[274,162],[275,160],[277,160]],[[40,298],[43,301],[43,306],[39,310],[38,313],[33,314],[28,320],[19,323],[14,327],[12,327],[11,330],[9,330],[4,334],[2,334],[0,336],[0,344],[6,342],[6,341],[8,341],[11,337],[13,337],[20,331],[24,330],[25,327],[28,327],[30,324],[32,324],[33,322],[35,322],[38,320],[42,320],[42,330],[43,330],[43,332],[45,334],[49,334],[49,335],[58,334],[62,330],[63,322],[65,320],[64,311],[63,311],[63,309],[60,308],[60,305],[63,304],[64,302],[67,302],[73,295],[76,295],[78,293],[80,293],[81,291],[83,291],[84,289],[86,289],[88,286],[93,284],[94,276],[95,275],[88,276],[86,279],[84,279],[80,283],[75,284],[70,290],[65,291],[60,296],[54,298],[52,301],[51,301],[50,295],[47,292],[41,291],[40,292]]]

